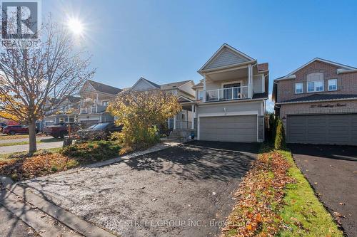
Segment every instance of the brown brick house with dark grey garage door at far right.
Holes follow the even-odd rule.
[[[357,145],[357,68],[315,58],[274,80],[288,143]]]

